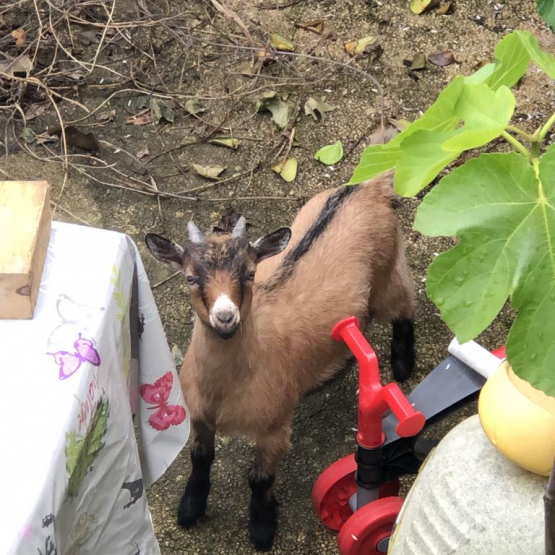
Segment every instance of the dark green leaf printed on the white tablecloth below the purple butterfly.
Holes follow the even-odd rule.
[[[76,432],[66,433],[66,470],[69,474],[67,496],[70,498],[77,497],[85,476],[104,447],[109,415],[109,402],[101,399],[96,405],[85,437]]]

